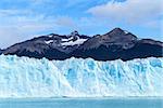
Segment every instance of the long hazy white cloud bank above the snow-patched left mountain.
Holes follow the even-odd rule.
[[[102,26],[95,18],[45,14],[32,14],[20,10],[0,10],[0,48],[4,49],[16,42],[33,38],[34,36],[55,33],[68,33],[73,30],[92,33],[96,27]],[[21,15],[20,15],[21,14]],[[100,27],[102,28],[102,27]],[[90,31],[90,32],[89,32]]]

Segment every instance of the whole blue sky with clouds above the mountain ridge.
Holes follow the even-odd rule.
[[[0,48],[40,35],[103,35],[115,27],[163,40],[163,0],[0,0]]]

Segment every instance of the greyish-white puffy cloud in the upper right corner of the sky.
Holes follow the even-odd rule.
[[[126,0],[109,1],[105,4],[90,8],[87,12],[100,18],[129,24],[145,23],[158,19],[163,15],[162,0]]]

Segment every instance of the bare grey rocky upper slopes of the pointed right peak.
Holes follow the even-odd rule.
[[[85,42],[84,48],[92,49],[100,45],[104,45],[106,48],[110,45],[120,45],[123,49],[128,49],[131,48],[136,41],[136,36],[124,31],[121,28],[115,28],[105,35],[95,36],[93,38],[89,39],[87,42]]]

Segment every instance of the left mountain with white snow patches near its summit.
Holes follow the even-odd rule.
[[[16,43],[3,51],[3,54],[18,56],[47,57],[49,59],[65,59],[71,57],[71,52],[76,50],[89,37],[78,35],[77,31],[67,36],[48,35]]]

